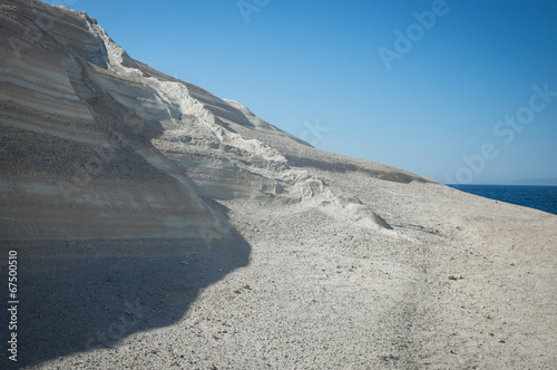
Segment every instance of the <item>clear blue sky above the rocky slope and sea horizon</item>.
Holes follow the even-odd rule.
[[[557,178],[557,93],[532,89],[557,91],[556,1],[66,3],[133,58],[282,129],[319,120],[319,148],[443,183]]]

